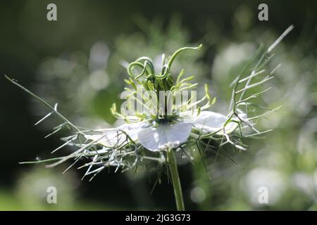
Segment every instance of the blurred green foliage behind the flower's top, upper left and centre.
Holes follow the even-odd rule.
[[[139,31],[121,34],[115,39],[111,53],[103,41],[98,41],[88,54],[75,51],[44,60],[37,71],[37,93],[46,101],[67,105],[65,114],[80,126],[107,127],[100,118],[113,123],[115,118],[109,110],[113,103],[120,102],[118,96],[125,86],[122,81],[128,76],[124,65],[144,55],[154,58],[154,63],[161,65],[162,53],[171,54],[175,49],[190,44],[189,32],[182,28],[177,15],[166,28],[163,28],[162,20],[150,22],[142,17],[135,20]],[[206,74],[206,65],[198,61],[202,53],[184,54],[178,58],[189,75]],[[175,71],[182,69],[178,61],[173,68]],[[33,111],[35,115],[45,113],[38,102]],[[52,124],[46,123],[44,126],[52,127]]]

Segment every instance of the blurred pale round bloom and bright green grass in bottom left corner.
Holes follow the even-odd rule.
[[[78,198],[80,180],[74,172],[61,176],[62,172],[61,168],[27,169],[20,174],[13,192],[0,189],[0,210],[123,210]],[[56,188],[56,203],[47,203],[49,187]]]

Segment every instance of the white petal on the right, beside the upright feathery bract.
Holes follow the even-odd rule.
[[[194,127],[203,129],[207,132],[218,131],[217,134],[221,135],[223,134],[223,126],[227,120],[228,118],[220,113],[201,111],[201,113],[194,119]],[[232,131],[235,131],[236,128],[236,122],[229,122],[225,125],[225,133],[229,134]]]

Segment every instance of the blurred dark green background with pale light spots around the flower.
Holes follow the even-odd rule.
[[[49,3],[57,5],[56,22],[46,20]],[[268,21],[258,20],[261,3],[268,4]],[[49,158],[68,131],[44,139],[58,119],[35,127],[49,111],[4,74],[58,102],[77,125],[111,127],[118,122],[109,108],[120,103],[127,76],[123,62],[202,43],[180,62],[211,85],[213,110],[225,113],[232,79],[259,44],[272,44],[291,24],[268,65],[281,63],[273,89],[259,100],[282,105],[259,120],[260,130],[274,131],[247,140],[246,152],[228,150],[236,163],[210,154],[207,172],[197,158],[180,166],[180,177],[188,210],[317,210],[316,15],[316,1],[1,1],[0,210],[175,210],[165,176],[153,188],[156,174],[145,172],[105,170],[89,182],[75,168],[62,174],[68,165],[18,165]],[[48,186],[56,186],[58,204],[46,203]],[[260,186],[268,188],[268,204],[259,204]]]

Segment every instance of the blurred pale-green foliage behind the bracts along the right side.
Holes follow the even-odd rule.
[[[230,80],[235,79],[257,47],[255,41],[249,40],[260,39],[267,45],[278,36],[267,31],[259,38],[261,32],[254,28],[244,37],[239,34],[240,37],[220,44],[223,47],[218,50],[212,68],[213,89],[223,94],[218,97],[219,110],[225,108],[230,98]],[[302,30],[294,44],[283,41],[275,51],[269,67],[273,70],[280,66],[275,70],[275,79],[268,84],[272,89],[262,101],[254,102],[269,103],[269,108],[282,105],[258,124],[260,130],[274,129],[271,134],[248,140],[247,153],[229,153],[239,166],[210,159],[211,182],[203,174],[204,167],[194,167],[197,181],[192,193],[200,188],[200,195],[204,196],[199,201],[202,210],[316,210],[316,35],[313,25],[310,32]],[[268,204],[258,201],[261,186],[268,188]]]

